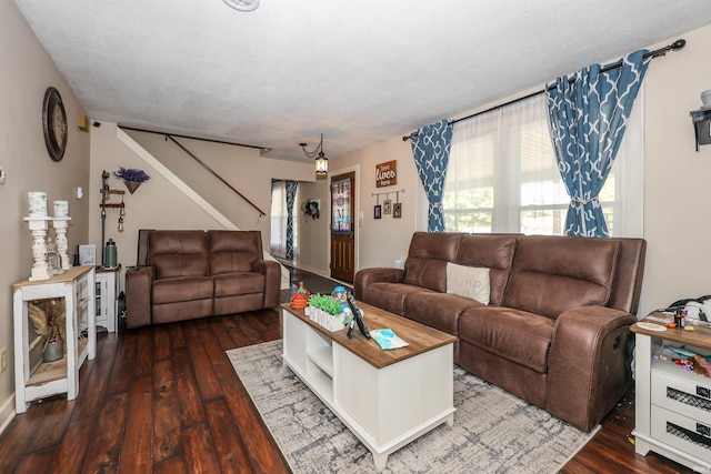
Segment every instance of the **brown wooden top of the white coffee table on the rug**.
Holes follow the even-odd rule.
[[[385,367],[447,344],[453,344],[457,341],[457,337],[451,334],[425,326],[417,321],[398,316],[389,311],[360,301],[358,305],[365,313],[365,326],[368,326],[369,331],[390,329],[409,345],[382,350],[373,339],[365,339],[358,327],[353,329],[353,337],[348,339],[348,329],[330,332],[311,321],[309,316],[303,314],[303,310],[296,310],[289,303],[283,303],[281,307],[377,369]]]

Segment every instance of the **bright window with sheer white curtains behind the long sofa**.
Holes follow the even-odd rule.
[[[629,134],[641,137],[637,131],[630,133],[632,128],[640,128],[637,123],[641,123],[641,115],[632,112],[618,159],[600,193],[610,235],[641,233],[641,225],[633,231],[622,225],[620,206],[624,189],[620,163],[629,161],[624,155],[630,154],[624,151],[624,142]],[[543,93],[453,127],[442,200],[447,231],[563,234],[570,198],[551,145]],[[632,180],[642,179],[640,172],[629,174]],[[641,185],[630,189],[638,188],[641,190]],[[629,194],[624,198],[631,199]],[[631,212],[637,210],[641,215],[641,191],[635,202],[639,209],[633,206]]]

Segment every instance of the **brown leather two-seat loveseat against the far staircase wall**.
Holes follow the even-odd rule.
[[[259,231],[140,230],[126,272],[128,327],[274,307],[281,269]]]

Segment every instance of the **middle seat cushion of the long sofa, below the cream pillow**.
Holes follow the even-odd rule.
[[[410,293],[404,300],[404,316],[457,335],[459,316],[470,307],[480,306],[483,304],[455,294],[417,292]]]

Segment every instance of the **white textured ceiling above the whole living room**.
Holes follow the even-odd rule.
[[[16,0],[92,119],[338,157],[711,23],[708,0]]]

